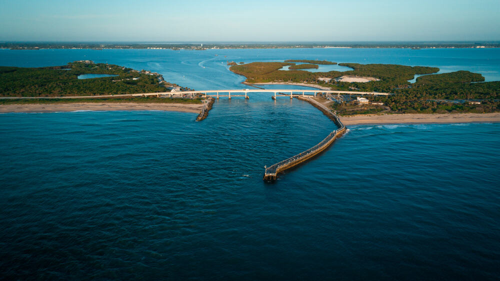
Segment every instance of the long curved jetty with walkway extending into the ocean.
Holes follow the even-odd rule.
[[[315,101],[310,97],[296,96],[296,98],[307,101],[314,107],[321,110],[326,116],[328,116],[328,118],[330,118],[338,126],[338,128],[330,132],[328,136],[326,136],[323,140],[321,140],[318,144],[312,146],[311,148],[302,151],[296,155],[293,155],[287,159],[284,159],[280,162],[277,162],[269,167],[266,167],[263,178],[264,180],[267,181],[275,180],[279,172],[282,172],[288,168],[296,166],[299,163],[314,157],[324,149],[328,148],[328,146],[330,146],[330,144],[337,137],[341,136],[345,132],[344,124],[342,124],[342,122],[338,119],[338,117],[333,112],[331,112],[331,110],[329,110],[326,106],[320,104],[319,102]]]

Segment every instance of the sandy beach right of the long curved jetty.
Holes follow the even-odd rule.
[[[500,112],[455,114],[386,114],[340,116],[345,125],[500,122]]]

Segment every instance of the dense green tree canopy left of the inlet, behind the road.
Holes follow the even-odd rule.
[[[115,77],[77,79],[80,74],[115,74]],[[0,66],[0,96],[77,96],[163,92],[160,75],[119,65],[75,61],[63,66]]]

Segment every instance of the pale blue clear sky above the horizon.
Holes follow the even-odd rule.
[[[0,0],[0,41],[500,40],[500,0]]]

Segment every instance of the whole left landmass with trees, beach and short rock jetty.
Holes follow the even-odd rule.
[[[213,98],[186,95],[186,90],[155,72],[90,60],[0,66],[0,112],[175,110],[198,112],[198,120],[203,119]]]

